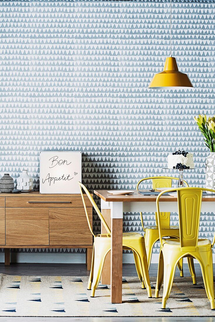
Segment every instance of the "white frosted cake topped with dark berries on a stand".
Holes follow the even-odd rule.
[[[193,154],[183,151],[176,151],[168,155],[169,169],[191,169],[194,168]]]

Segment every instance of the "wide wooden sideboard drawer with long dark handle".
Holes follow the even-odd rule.
[[[51,208],[51,207],[83,207],[81,196],[77,197],[6,197],[5,207]],[[85,197],[87,207],[92,207],[89,199]]]

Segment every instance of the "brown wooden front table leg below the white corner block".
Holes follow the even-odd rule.
[[[111,218],[111,302],[122,303],[122,218]]]

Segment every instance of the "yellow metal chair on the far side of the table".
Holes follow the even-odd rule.
[[[166,176],[156,176],[156,177],[148,177],[141,179],[137,184],[137,190],[139,188],[140,183],[151,180],[152,181],[152,188],[171,188],[172,187],[172,180],[179,180],[179,178],[176,177],[166,177]],[[184,183],[187,187],[189,187],[188,183],[184,180]],[[161,225],[162,225],[162,237],[178,237],[179,238],[179,226],[170,226],[170,213],[161,213]],[[154,247],[154,244],[159,240],[159,231],[158,231],[158,220],[157,220],[157,213],[155,213],[155,220],[156,225],[155,226],[147,226],[144,227],[143,223],[143,216],[142,213],[140,213],[140,220],[143,227],[143,231],[145,232],[144,238],[145,238],[145,246],[146,246],[146,254],[147,254],[147,260],[148,260],[148,269],[150,267],[151,263],[151,256],[152,256],[152,250]],[[193,278],[193,284],[196,284],[196,275],[193,265],[193,259],[188,259],[188,266],[190,274]],[[183,259],[181,259],[178,263],[178,267],[180,270],[180,276],[183,276]]]

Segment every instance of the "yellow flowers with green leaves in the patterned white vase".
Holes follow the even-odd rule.
[[[200,114],[194,119],[205,137],[206,146],[209,147],[210,152],[215,152],[215,115],[207,119],[206,115]]]

